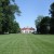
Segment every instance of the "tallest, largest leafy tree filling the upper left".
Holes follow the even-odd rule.
[[[15,19],[14,14],[21,14],[19,8],[15,3],[11,4],[10,1],[11,0],[0,0],[0,32],[2,33],[10,30],[10,27]]]

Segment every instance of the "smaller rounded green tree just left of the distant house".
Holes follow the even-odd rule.
[[[16,22],[13,22],[13,23],[12,23],[12,26],[10,27],[9,32],[10,32],[10,33],[17,33],[17,32],[21,32],[19,24],[16,23]]]

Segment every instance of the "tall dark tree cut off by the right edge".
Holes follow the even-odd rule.
[[[50,33],[54,33],[54,2],[50,6],[50,14],[51,14],[51,30]]]

